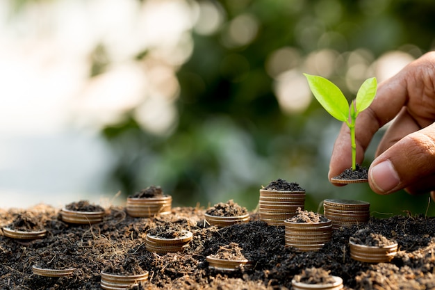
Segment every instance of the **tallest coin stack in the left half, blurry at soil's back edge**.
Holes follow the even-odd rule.
[[[172,197],[162,195],[158,198],[127,198],[127,214],[135,218],[150,218],[163,214],[170,214]]]

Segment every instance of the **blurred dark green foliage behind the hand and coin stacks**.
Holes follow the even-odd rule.
[[[340,123],[315,101],[305,111],[286,113],[265,67],[270,54],[282,47],[297,49],[299,61],[319,49],[343,56],[366,49],[374,58],[399,50],[417,58],[434,45],[434,1],[210,2],[222,10],[224,22],[211,35],[191,31],[192,56],[177,71],[181,92],[176,127],[155,135],[129,114],[101,131],[117,156],[108,189],[120,188],[129,195],[160,185],[173,196],[174,205],[207,206],[233,199],[252,210],[258,189],[283,178],[306,188],[306,209],[318,210],[325,198],[347,198],[370,201],[376,216],[403,210],[426,213],[429,195],[381,196],[367,184],[341,188],[329,184],[329,154]],[[222,43],[227,25],[242,14],[257,19],[256,37],[247,45],[228,47]],[[145,58],[147,51],[136,61]],[[98,72],[98,61],[94,69]],[[329,79],[353,98],[345,73],[336,67]],[[372,161],[381,134],[373,139],[365,166]],[[429,205],[429,215],[435,214],[434,208]]]

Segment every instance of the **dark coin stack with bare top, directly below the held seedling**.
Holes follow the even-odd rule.
[[[324,200],[323,214],[332,220],[332,227],[351,227],[368,223],[370,203],[361,200]]]

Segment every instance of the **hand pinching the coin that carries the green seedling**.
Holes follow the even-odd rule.
[[[379,84],[377,95],[356,118],[356,161],[363,161],[372,136],[393,120],[368,170],[372,191],[405,189],[435,198],[435,51],[413,61]],[[334,144],[329,179],[352,163],[350,131],[345,125]]]

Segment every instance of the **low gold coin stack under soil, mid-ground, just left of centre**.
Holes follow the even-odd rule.
[[[182,252],[192,240],[193,234],[187,230],[181,231],[177,238],[167,239],[147,234],[145,247],[149,252],[165,254],[167,252]]]

